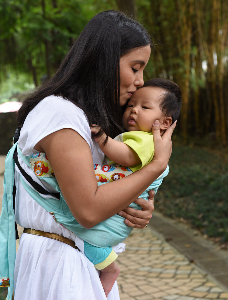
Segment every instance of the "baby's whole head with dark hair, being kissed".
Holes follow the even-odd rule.
[[[151,132],[154,121],[159,120],[163,133],[177,120],[180,110],[179,86],[168,79],[154,78],[134,92],[123,114],[123,124],[127,131]]]

